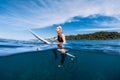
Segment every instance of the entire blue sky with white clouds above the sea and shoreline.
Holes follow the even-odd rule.
[[[97,31],[120,32],[120,0],[0,0],[0,38],[28,40]]]

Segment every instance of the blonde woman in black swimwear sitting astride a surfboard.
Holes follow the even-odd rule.
[[[62,53],[61,54],[61,64],[58,65],[58,67],[62,67],[63,63],[64,63],[64,59],[65,59],[65,54],[67,52],[66,49],[64,49],[63,44],[66,43],[66,39],[65,39],[65,35],[62,32],[62,27],[61,26],[57,26],[56,27],[56,32],[58,34],[57,36],[57,46],[58,46],[58,50]]]

